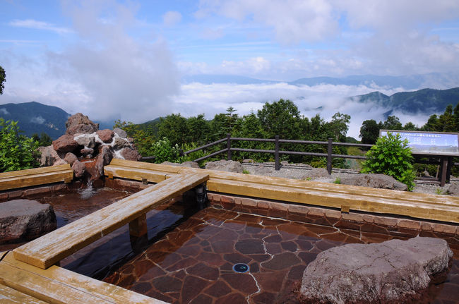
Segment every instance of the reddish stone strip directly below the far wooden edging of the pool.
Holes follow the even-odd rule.
[[[389,234],[401,238],[431,236],[451,238],[459,245],[459,225],[420,221],[405,217],[385,217],[378,214],[360,212],[341,212],[339,209],[312,207],[272,200],[258,200],[251,197],[238,197],[222,193],[208,193],[211,205],[238,212],[247,212],[289,219],[307,221],[311,224],[335,226],[339,229],[360,231],[362,240],[375,238],[377,234]],[[450,243],[448,241],[448,243]]]

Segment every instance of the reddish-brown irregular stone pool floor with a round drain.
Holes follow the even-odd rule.
[[[208,207],[104,281],[168,303],[297,303],[292,290],[321,251],[344,243],[410,237],[390,235],[376,224],[333,224]],[[434,303],[459,298],[457,253],[446,283],[429,290]],[[249,272],[234,272],[237,263],[249,265]]]

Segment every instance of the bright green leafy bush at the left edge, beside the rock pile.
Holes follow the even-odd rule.
[[[5,121],[0,117],[0,172],[38,166],[38,142],[19,135],[17,125],[17,121]]]

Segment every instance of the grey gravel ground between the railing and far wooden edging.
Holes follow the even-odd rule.
[[[319,173],[317,176],[311,176],[312,168],[306,164],[285,164],[279,171],[275,171],[274,163],[243,163],[242,168],[249,171],[249,174],[254,175],[278,176],[294,179],[306,179],[306,177],[310,177],[311,181],[320,181],[323,183],[333,183],[333,181],[336,181],[337,178],[343,178],[345,176],[349,176],[350,174],[358,174],[358,171],[356,170],[333,169],[332,174],[329,176],[326,173],[326,170],[323,169],[323,174]],[[447,183],[443,187],[436,184],[416,183],[413,192],[443,195],[448,193],[448,188],[453,183],[459,183],[459,178],[453,178],[453,176],[451,176],[451,184]]]

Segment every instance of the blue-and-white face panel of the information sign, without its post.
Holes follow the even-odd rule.
[[[459,133],[436,133],[403,130],[380,130],[380,136],[398,133],[409,142],[413,154],[459,156]]]

